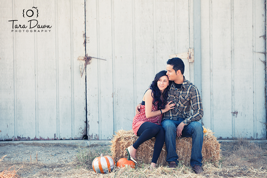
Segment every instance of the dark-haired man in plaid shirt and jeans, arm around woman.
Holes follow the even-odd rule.
[[[185,79],[185,65],[180,58],[167,61],[167,75],[170,81],[167,101],[175,103],[174,109],[163,114],[161,125],[165,130],[165,144],[167,150],[166,161],[170,168],[175,168],[178,163],[176,153],[176,136],[192,137],[192,151],[190,165],[196,174],[203,172],[202,144],[203,127],[200,120],[203,116],[201,97],[195,85]],[[136,112],[138,113],[138,107]]]

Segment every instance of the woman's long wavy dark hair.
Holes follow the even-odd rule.
[[[169,90],[170,85],[167,86],[167,88],[165,89],[167,90],[167,92],[163,92],[163,101],[160,99],[161,92],[160,92],[160,89],[158,88],[158,80],[160,79],[160,77],[165,76],[166,73],[167,71],[165,70],[160,71],[158,74],[156,74],[154,81],[150,85],[150,89],[152,90],[152,93],[153,93],[152,97],[154,98],[153,105],[157,109],[165,109],[165,105],[167,104],[167,96],[168,96],[168,90]],[[158,101],[158,104],[156,104],[157,101]]]

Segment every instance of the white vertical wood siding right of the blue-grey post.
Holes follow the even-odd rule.
[[[266,139],[264,1],[201,1],[202,123]]]

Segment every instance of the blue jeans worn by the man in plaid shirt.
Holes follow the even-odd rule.
[[[176,128],[184,119],[178,118],[178,120],[165,119],[161,122],[162,127],[165,130],[165,145],[167,150],[166,161],[170,163],[175,161],[178,163],[178,155],[176,153]],[[182,130],[183,137],[192,136],[192,151],[190,165],[202,166],[202,144],[203,144],[203,127],[201,123],[191,122],[185,125]]]

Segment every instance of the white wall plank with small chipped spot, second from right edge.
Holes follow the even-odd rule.
[[[253,47],[252,1],[234,1],[234,80],[236,137],[252,137],[253,129]],[[246,38],[244,38],[246,36]],[[252,85],[252,86],[251,86]]]

